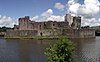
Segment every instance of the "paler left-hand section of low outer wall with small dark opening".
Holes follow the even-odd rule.
[[[60,36],[61,29],[43,30],[7,30],[5,37],[35,37],[35,36]]]

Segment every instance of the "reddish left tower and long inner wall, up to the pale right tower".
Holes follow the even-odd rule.
[[[70,16],[68,15],[67,18]],[[65,17],[66,18],[66,17]],[[67,28],[69,27],[68,21],[65,19],[63,22],[57,22],[57,21],[45,21],[45,22],[35,22],[31,21],[29,16],[25,16],[23,18],[19,18],[19,26],[18,30],[43,30],[43,29],[54,29],[54,28]],[[14,29],[17,27],[15,26]]]

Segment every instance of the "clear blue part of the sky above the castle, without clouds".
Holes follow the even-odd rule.
[[[66,4],[67,0],[1,0],[0,15],[6,15],[13,18],[20,16],[35,16],[51,8],[54,14],[64,14],[54,8],[55,3]],[[60,13],[61,12],[61,13]]]

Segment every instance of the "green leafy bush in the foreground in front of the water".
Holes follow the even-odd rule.
[[[74,45],[66,37],[62,37],[56,44],[46,49],[48,62],[72,62]]]

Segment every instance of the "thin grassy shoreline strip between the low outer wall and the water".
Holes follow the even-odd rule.
[[[45,39],[59,39],[61,37],[66,37],[68,38],[67,36],[36,36],[36,37],[2,37],[4,39],[37,39],[37,40],[45,40]],[[91,39],[91,38],[96,38],[95,37],[71,37],[71,38],[68,38],[68,39]]]

